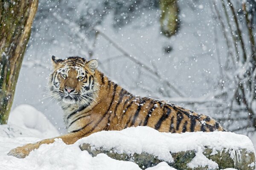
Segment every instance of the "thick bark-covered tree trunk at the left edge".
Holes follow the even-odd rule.
[[[0,2],[0,124],[6,124],[14,99],[38,0]]]

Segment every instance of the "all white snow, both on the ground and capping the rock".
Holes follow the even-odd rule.
[[[91,143],[95,147],[116,148],[116,152],[141,153],[146,151],[170,162],[172,156],[169,151],[195,149],[203,147],[205,144],[217,150],[222,147],[231,149],[242,147],[254,151],[253,144],[247,136],[234,133],[199,132],[179,135],[159,133],[149,127],[131,127],[122,131],[94,133],[72,145],[67,145],[62,140],[56,139],[52,144],[41,145],[38,150],[32,151],[25,159],[6,155],[14,147],[58,135],[58,131],[41,112],[30,105],[18,106],[12,111],[8,125],[0,125],[0,170],[82,170],[84,168],[87,170],[140,170],[140,167],[131,161],[117,161],[105,154],[92,157],[87,151],[80,150],[79,144],[84,142]],[[212,136],[215,137],[212,138]],[[184,144],[184,141],[190,142]],[[175,144],[175,147],[172,143]],[[195,166],[199,161],[201,163],[207,161],[205,158],[198,154],[190,166]],[[216,166],[216,163],[208,163]],[[147,170],[175,169],[169,167],[166,162],[161,162]]]

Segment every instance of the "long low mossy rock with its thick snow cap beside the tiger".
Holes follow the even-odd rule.
[[[150,127],[101,131],[80,139],[81,150],[131,160],[142,169],[165,161],[178,170],[254,170],[253,144],[231,132],[160,133]],[[251,166],[252,165],[252,166]]]

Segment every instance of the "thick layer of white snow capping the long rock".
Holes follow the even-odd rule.
[[[228,148],[254,152],[251,140],[247,136],[236,133],[160,133],[151,127],[142,126],[129,127],[121,131],[100,131],[80,139],[78,142],[90,144],[96,149],[102,147],[104,150],[111,150],[114,148],[116,153],[141,154],[146,152],[168,162],[173,161],[171,153],[186,150],[198,151],[198,148],[205,146],[214,150]]]

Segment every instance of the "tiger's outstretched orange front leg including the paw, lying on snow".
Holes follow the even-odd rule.
[[[36,142],[33,144],[25,144],[21,147],[16,147],[16,148],[10,150],[8,155],[15,156],[17,158],[25,158],[26,156],[29,155],[29,153],[32,150],[38,149],[41,144],[53,143],[54,139],[58,139],[58,138],[62,139],[63,142],[65,142],[66,144],[73,144],[81,137],[79,136],[78,133],[68,133],[63,136],[59,136],[59,137],[55,137],[55,138],[51,138],[51,139],[44,139],[42,141],[39,141],[39,142]]]

